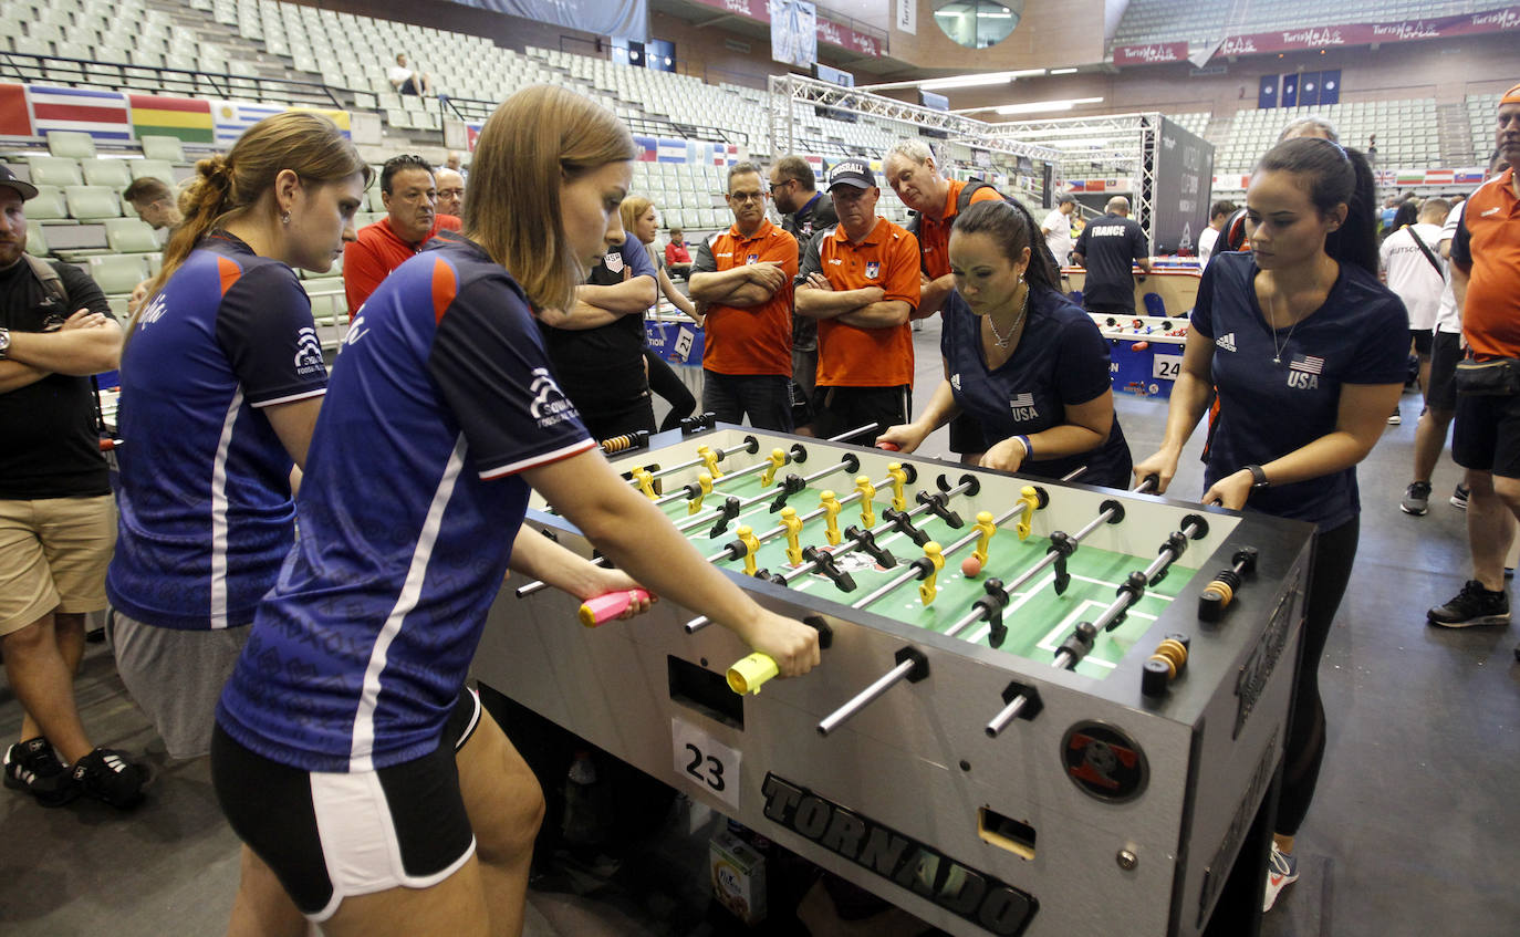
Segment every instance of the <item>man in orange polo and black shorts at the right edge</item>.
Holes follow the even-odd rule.
[[[1499,100],[1494,145],[1509,169],[1467,199],[1452,239],[1452,292],[1462,313],[1462,342],[1476,361],[1520,359],[1520,85]],[[1474,395],[1461,394],[1461,386],[1452,458],[1467,468],[1471,490],[1473,578],[1427,618],[1444,628],[1508,625],[1505,554],[1514,531],[1509,517],[1520,519],[1520,388]]]

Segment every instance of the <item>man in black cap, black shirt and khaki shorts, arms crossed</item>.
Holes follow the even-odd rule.
[[[0,167],[0,645],[23,709],[5,783],[44,806],[125,808],[147,776],[88,741],[73,689],[116,545],[90,376],[117,367],[122,327],[88,275],[26,256],[35,195]]]

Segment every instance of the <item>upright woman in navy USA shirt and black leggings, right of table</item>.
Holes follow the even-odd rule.
[[[1204,269],[1160,452],[1164,491],[1218,388],[1204,502],[1318,528],[1265,907],[1298,878],[1294,835],[1325,748],[1319,656],[1356,557],[1356,464],[1404,382],[1403,303],[1377,281],[1373,173],[1328,140],[1274,146],[1246,192],[1249,253]]]

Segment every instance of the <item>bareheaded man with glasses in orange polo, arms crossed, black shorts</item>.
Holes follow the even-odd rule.
[[[692,298],[707,304],[702,409],[725,423],[792,432],[792,278],[796,239],[765,216],[760,167],[728,170],[734,224],[702,242]]]

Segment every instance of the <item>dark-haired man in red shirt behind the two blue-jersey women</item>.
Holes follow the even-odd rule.
[[[357,313],[369,294],[391,271],[438,233],[459,230],[459,219],[438,213],[438,186],[433,167],[423,157],[391,157],[380,169],[380,198],[386,216],[359,231],[359,239],[344,246],[344,292],[350,315]]]

